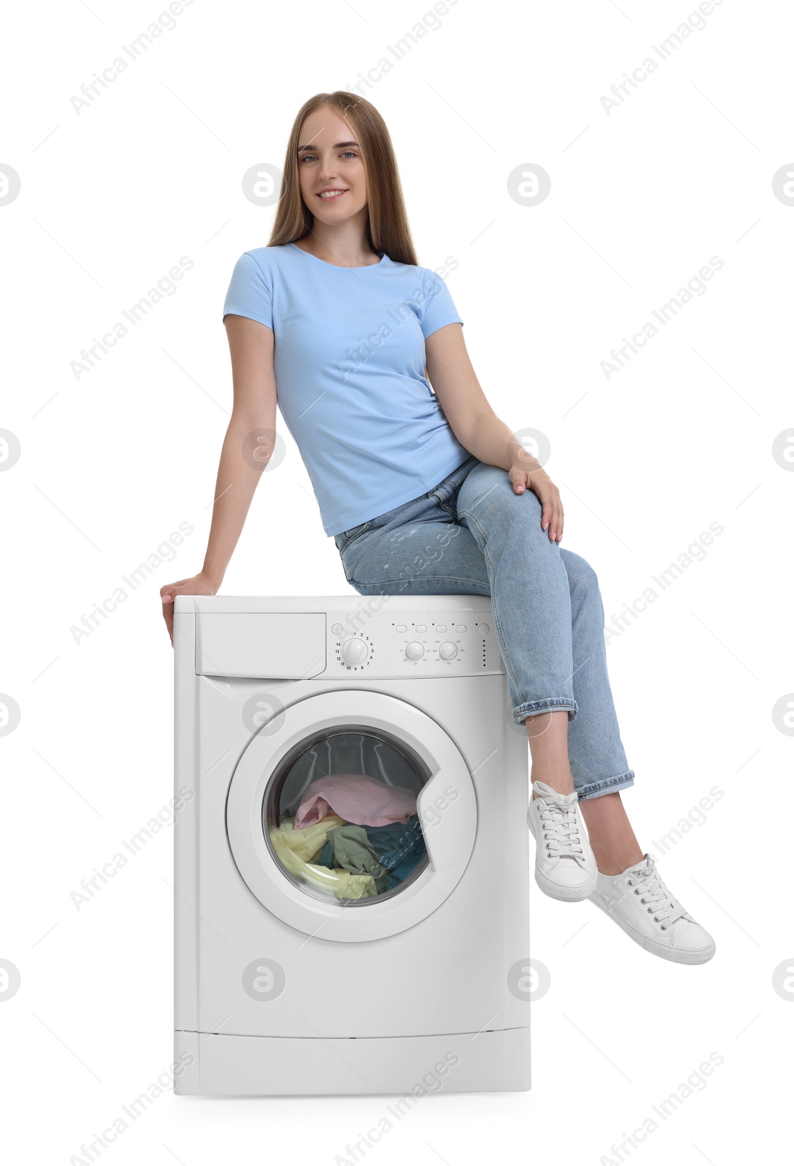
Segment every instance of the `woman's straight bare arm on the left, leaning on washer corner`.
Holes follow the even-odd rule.
[[[232,357],[234,403],[224,437],[212,507],[212,525],[204,566],[198,575],[169,583],[160,596],[163,618],[174,640],[174,599],[177,595],[215,595],[223,583],[229,560],[243,532],[251,499],[267,465],[273,443],[251,440],[254,430],[275,435],[275,375],[273,373],[274,336],[269,328],[245,316],[226,316],[224,321]],[[247,445],[246,445],[246,440]],[[257,457],[252,451],[257,450]],[[245,457],[261,469],[254,469]]]

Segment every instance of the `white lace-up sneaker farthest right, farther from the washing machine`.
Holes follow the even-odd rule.
[[[675,963],[705,963],[716,943],[667,890],[649,855],[623,874],[598,873],[590,901],[646,951]]]

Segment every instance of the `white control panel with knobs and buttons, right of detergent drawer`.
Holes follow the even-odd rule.
[[[483,675],[504,672],[499,645],[483,611],[423,617],[380,611],[328,616],[325,675]]]

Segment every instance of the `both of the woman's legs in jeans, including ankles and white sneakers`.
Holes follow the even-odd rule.
[[[606,675],[598,582],[541,531],[536,497],[514,494],[501,470],[466,463],[337,546],[363,595],[491,595],[513,717],[527,729],[533,780],[544,785],[529,813],[539,885],[555,899],[589,898],[665,960],[710,960],[714,940],[642,856],[620,803],[634,775]]]

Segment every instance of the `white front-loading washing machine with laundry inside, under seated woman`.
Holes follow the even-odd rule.
[[[528,1089],[490,599],[178,597],[174,646],[176,1093]]]

